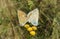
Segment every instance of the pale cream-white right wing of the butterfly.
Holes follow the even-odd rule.
[[[38,25],[39,11],[37,8],[29,12],[27,17],[28,17],[28,22],[32,23],[35,26]]]

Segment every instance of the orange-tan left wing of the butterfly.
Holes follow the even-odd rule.
[[[18,19],[21,26],[24,26],[27,22],[26,14],[21,10],[18,10]]]

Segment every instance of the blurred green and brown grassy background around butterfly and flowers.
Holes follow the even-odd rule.
[[[19,26],[17,10],[39,9],[36,36]],[[0,39],[60,39],[60,0],[0,0]]]

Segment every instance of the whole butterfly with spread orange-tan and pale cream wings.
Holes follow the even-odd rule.
[[[28,14],[25,12],[18,10],[18,19],[21,26],[24,26],[27,22],[32,25],[38,25],[39,18],[39,10],[36,8],[33,11],[30,11]]]

